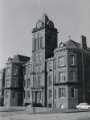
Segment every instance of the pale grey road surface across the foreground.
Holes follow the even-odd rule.
[[[0,120],[90,120],[90,112],[30,114],[25,111],[0,112]]]

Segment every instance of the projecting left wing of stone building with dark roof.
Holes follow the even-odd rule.
[[[5,106],[23,105],[23,64],[29,60],[29,57],[16,55],[14,58],[8,58],[5,68]]]

